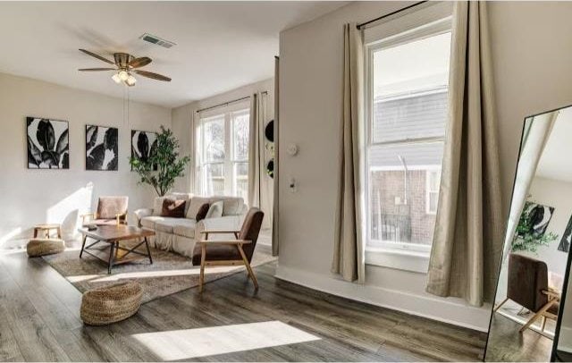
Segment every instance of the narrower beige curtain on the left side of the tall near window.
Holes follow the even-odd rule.
[[[363,195],[363,37],[355,23],[344,27],[343,115],[340,183],[336,210],[332,272],[344,280],[365,281],[362,240]]]

